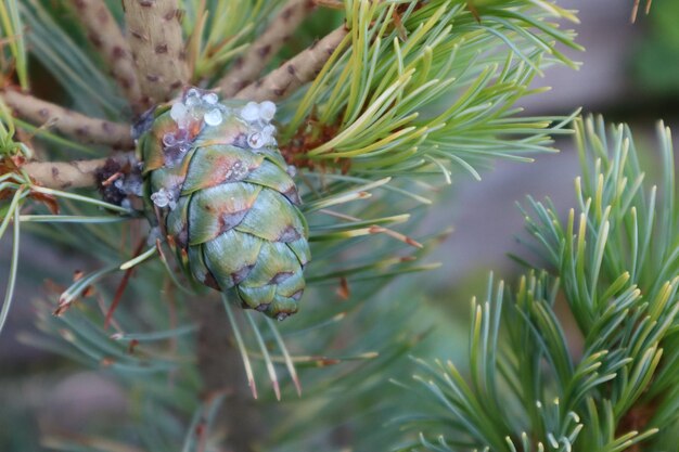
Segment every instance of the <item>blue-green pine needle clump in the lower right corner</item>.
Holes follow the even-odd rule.
[[[669,129],[642,165],[627,126],[577,119],[578,206],[528,201],[548,267],[472,302],[469,378],[422,362],[433,451],[666,451],[679,440],[679,210]],[[655,157],[655,156],[654,156]],[[657,163],[655,163],[657,162]],[[648,171],[644,171],[644,167]],[[572,349],[560,305],[582,338]],[[561,310],[563,311],[563,310]],[[516,415],[510,414],[516,413]],[[415,425],[423,425],[415,423]]]

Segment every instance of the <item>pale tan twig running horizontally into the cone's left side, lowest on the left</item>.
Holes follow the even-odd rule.
[[[21,168],[38,184],[48,189],[64,190],[97,185],[97,173],[114,160],[125,165],[132,162],[133,153],[115,154],[108,158],[75,162],[29,162]]]

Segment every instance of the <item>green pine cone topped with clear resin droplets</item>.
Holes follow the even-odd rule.
[[[310,253],[274,113],[191,88],[146,118],[138,153],[149,217],[185,273],[282,320],[297,311]]]

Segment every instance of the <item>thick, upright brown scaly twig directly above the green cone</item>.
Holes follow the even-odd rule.
[[[177,0],[124,0],[128,40],[151,103],[167,101],[189,79]]]

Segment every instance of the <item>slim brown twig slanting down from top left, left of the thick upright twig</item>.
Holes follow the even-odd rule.
[[[120,86],[134,112],[144,109],[141,88],[134,72],[132,53],[108,11],[104,0],[69,0],[87,29],[88,38],[101,52],[116,82]]]

